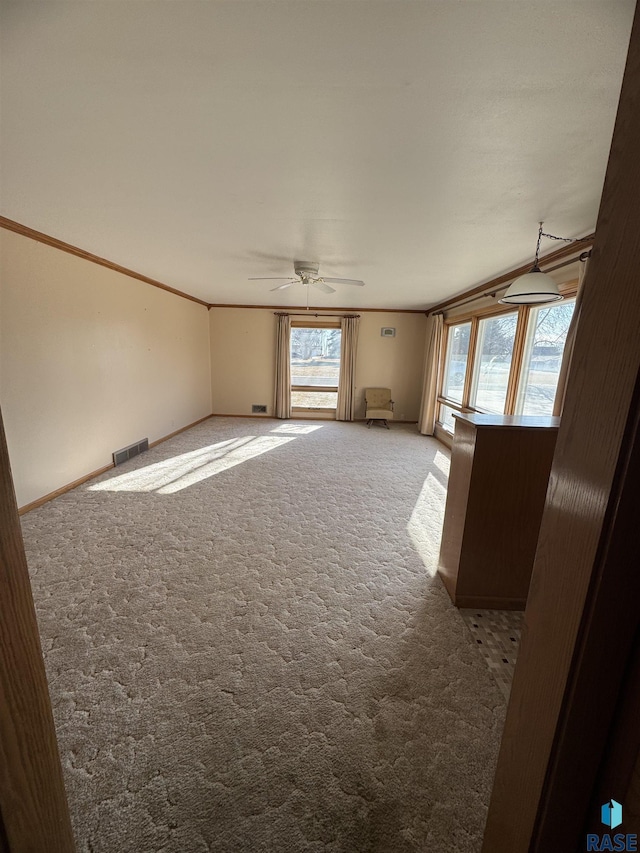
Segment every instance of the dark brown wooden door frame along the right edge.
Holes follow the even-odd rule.
[[[614,721],[632,701],[625,685],[640,593],[638,150],[636,9],[483,853],[586,849],[603,768],[611,770]],[[629,731],[632,758],[639,746]],[[624,794],[609,791],[605,800]]]

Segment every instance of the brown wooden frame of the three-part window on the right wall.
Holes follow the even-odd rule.
[[[565,284],[559,285],[559,290],[562,296],[565,299],[572,299],[577,295],[578,292],[578,280],[575,279],[573,281],[566,282]],[[513,350],[511,354],[511,367],[509,369],[509,379],[507,382],[507,394],[505,399],[505,407],[504,414],[505,415],[514,415],[516,404],[518,400],[518,391],[519,391],[519,383],[522,374],[522,362],[524,358],[524,349],[527,338],[527,329],[529,326],[529,315],[531,310],[534,308],[539,308],[539,305],[500,305],[499,303],[496,305],[488,305],[484,308],[478,308],[475,311],[470,310],[467,312],[463,312],[457,314],[452,317],[445,318],[444,321],[444,335],[442,341],[442,350],[440,352],[440,365],[439,365],[439,378],[438,378],[438,395],[437,395],[437,413],[436,413],[436,425],[437,428],[442,430],[444,436],[449,439],[452,437],[452,433],[444,426],[442,421],[440,420],[440,410],[441,406],[447,406],[450,409],[453,409],[455,412],[460,412],[461,414],[469,414],[469,413],[479,413],[484,414],[485,412],[477,408],[476,406],[472,406],[470,404],[471,397],[471,383],[473,381],[473,375],[475,370],[475,362],[476,362],[476,347],[478,342],[478,327],[480,324],[480,320],[487,319],[489,317],[498,317],[501,314],[515,314],[517,313],[518,319],[516,323],[516,333],[513,342]],[[464,386],[462,389],[462,402],[459,403],[455,400],[451,400],[448,397],[445,397],[442,393],[443,385],[445,381],[444,369],[447,358],[447,347],[449,345],[449,334],[451,328],[454,326],[461,326],[464,323],[471,323],[471,332],[469,335],[469,353],[467,355],[467,366],[465,373]]]

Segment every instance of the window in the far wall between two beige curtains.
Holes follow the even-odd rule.
[[[335,410],[342,331],[335,324],[291,329],[291,406]]]

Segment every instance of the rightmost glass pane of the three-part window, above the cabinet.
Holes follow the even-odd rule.
[[[550,415],[575,299],[529,312],[516,414]]]

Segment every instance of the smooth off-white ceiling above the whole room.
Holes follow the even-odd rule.
[[[301,259],[424,308],[593,229],[633,8],[2,2],[0,211],[208,302]]]

